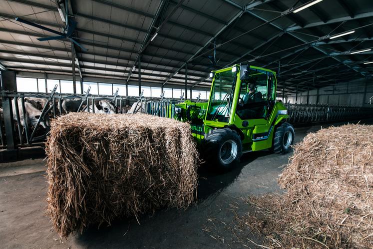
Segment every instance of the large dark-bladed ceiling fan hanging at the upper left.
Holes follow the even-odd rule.
[[[59,31],[50,29],[48,27],[44,27],[42,25],[39,25],[39,24],[34,23],[32,21],[28,21],[28,20],[22,19],[20,17],[16,17],[15,20],[20,21],[20,22],[25,23],[25,24],[28,24],[28,25],[31,25],[31,26],[34,26],[34,27],[37,27],[37,28],[40,28],[40,29],[43,29],[43,30],[46,30],[46,31],[51,32],[51,33],[57,34],[57,36],[48,36],[48,37],[37,38],[40,41],[68,39],[71,42],[73,42],[76,45],[78,45],[83,51],[87,51],[87,49],[84,46],[82,46],[73,37],[71,37],[71,35],[75,31],[77,22],[75,20],[73,20],[72,18],[68,17],[67,0],[65,1],[65,16],[63,15],[63,12],[62,12],[61,8],[58,8],[58,12],[61,15],[62,20],[66,23],[66,26],[64,27],[63,32],[59,32]]]

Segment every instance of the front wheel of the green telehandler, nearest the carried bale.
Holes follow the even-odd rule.
[[[211,166],[219,170],[232,169],[242,156],[242,141],[235,130],[215,128],[204,138],[203,157]]]

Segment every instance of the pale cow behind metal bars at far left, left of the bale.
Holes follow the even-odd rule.
[[[17,120],[17,114],[16,114],[15,105],[14,105],[13,101],[11,103],[12,103],[11,108],[12,108],[12,111],[13,111],[13,120],[16,121]],[[27,122],[28,127],[32,127],[32,126],[36,125],[37,120],[39,119],[39,117],[41,115],[41,111],[38,110],[35,106],[33,106],[29,102],[24,102],[24,109],[26,110],[26,122]],[[3,116],[3,110],[2,109],[0,109],[0,112],[1,112],[1,116]],[[22,103],[21,103],[20,99],[18,99],[18,113],[19,113],[20,124],[23,127],[25,127],[26,122],[24,120],[24,115],[23,115],[23,111],[22,111]],[[45,120],[40,120],[39,125],[41,125],[45,129],[49,126],[49,120],[48,120],[47,115],[45,115]]]

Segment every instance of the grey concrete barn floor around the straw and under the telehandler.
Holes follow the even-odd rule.
[[[369,120],[365,123],[372,124]],[[341,123],[338,123],[341,124]],[[338,125],[334,124],[334,125]],[[296,128],[296,142],[321,125]],[[327,126],[327,125],[324,125]],[[159,210],[155,215],[117,220],[111,226],[90,227],[83,234],[59,239],[45,216],[47,189],[41,159],[0,164],[1,248],[256,248],[247,232],[231,229],[235,217],[244,215],[247,195],[282,191],[277,178],[286,155],[269,151],[245,154],[241,163],[225,174],[200,169],[198,201],[186,210]]]

